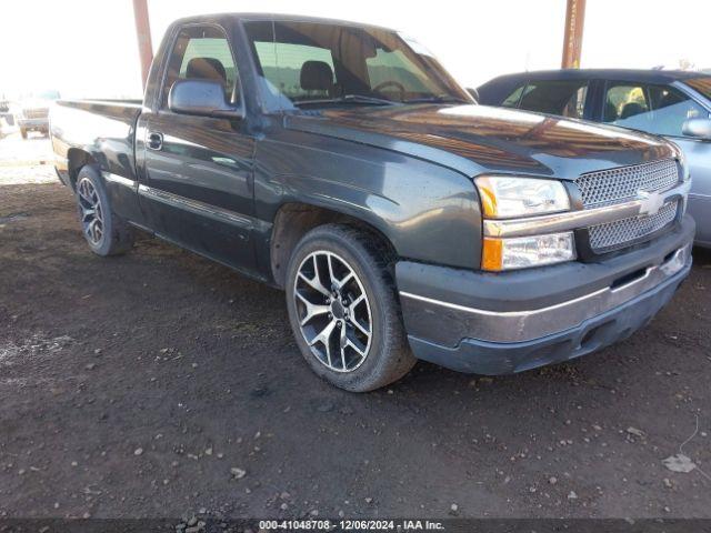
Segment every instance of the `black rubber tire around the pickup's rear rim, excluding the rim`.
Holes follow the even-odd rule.
[[[82,209],[82,198],[80,192],[80,190],[83,190],[83,180],[87,180],[91,184],[100,202],[102,231],[101,238],[98,240],[92,239],[90,232],[87,231],[87,224],[84,222],[84,211]],[[133,247],[133,228],[113,213],[99,171],[91,165],[82,167],[77,175],[77,184],[74,189],[77,205],[79,209],[79,219],[82,224],[82,234],[84,235],[91,251],[97,255],[102,257],[119,255],[129,251]]]

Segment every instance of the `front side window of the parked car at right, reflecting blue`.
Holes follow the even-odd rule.
[[[657,135],[681,137],[689,119],[708,112],[670,86],[612,86],[605,98],[604,121]]]

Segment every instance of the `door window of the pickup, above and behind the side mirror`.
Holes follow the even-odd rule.
[[[230,102],[240,101],[238,72],[230,43],[222,29],[191,26],[180,31],[168,60],[161,94],[163,108],[168,104],[168,94],[173,83],[189,79],[218,81]]]

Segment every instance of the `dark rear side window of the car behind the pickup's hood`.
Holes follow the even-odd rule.
[[[588,97],[588,80],[530,81],[521,97],[520,109],[582,119]]]

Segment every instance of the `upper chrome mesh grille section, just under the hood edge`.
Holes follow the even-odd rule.
[[[663,191],[678,182],[673,159],[590,172],[575,180],[585,209],[634,200],[640,191]]]

